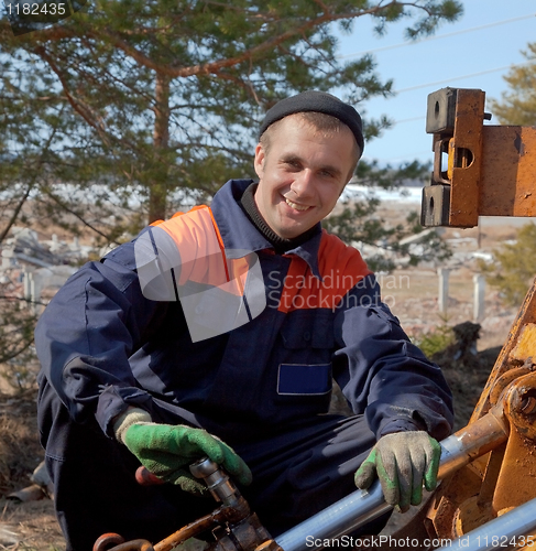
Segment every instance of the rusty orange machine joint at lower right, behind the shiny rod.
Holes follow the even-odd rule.
[[[460,538],[536,495],[536,372],[514,368],[495,386],[496,403],[463,431],[472,439],[490,413],[497,419],[502,413],[510,426],[507,439],[491,450],[484,465],[473,463],[457,471],[436,493],[426,522],[433,538]]]

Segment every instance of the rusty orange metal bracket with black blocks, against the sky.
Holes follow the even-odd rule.
[[[434,172],[423,190],[423,226],[467,228],[479,216],[536,216],[536,127],[484,126],[491,118],[484,100],[479,89],[428,96]]]

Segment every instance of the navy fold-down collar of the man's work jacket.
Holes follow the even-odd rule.
[[[218,225],[228,258],[241,258],[249,252],[273,249],[272,244],[251,224],[239,202],[253,180],[230,180],[214,196],[210,208]],[[321,224],[317,224],[314,236],[285,255],[303,258],[318,279],[318,250],[322,237]]]

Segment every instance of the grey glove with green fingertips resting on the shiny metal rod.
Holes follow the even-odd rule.
[[[441,447],[424,431],[396,432],[382,436],[355,472],[355,486],[367,489],[380,478],[385,501],[406,511],[437,485]]]

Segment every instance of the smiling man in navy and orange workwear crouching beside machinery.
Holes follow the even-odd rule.
[[[228,182],[210,208],[86,264],[40,320],[39,421],[67,549],[108,531],[155,542],[206,515],[187,473],[204,455],[272,536],[376,476],[403,510],[435,484],[447,385],[359,252],[320,227],[362,154],[361,118],[308,91],[260,133],[259,183]],[[354,415],[327,414],[332,378]],[[136,485],[140,464],[173,484]]]

